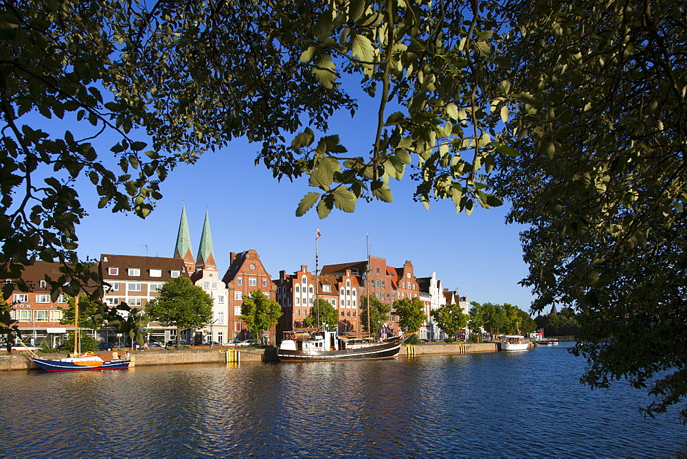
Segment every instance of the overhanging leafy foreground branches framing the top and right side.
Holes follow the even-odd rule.
[[[10,5],[0,273],[76,262],[78,179],[100,206],[145,216],[176,164],[245,135],[275,178],[316,190],[297,215],[391,201],[392,179],[407,176],[425,207],[508,199],[508,220],[529,225],[534,311],[584,314],[583,381],[627,378],[658,396],[647,413],[662,412],[687,396],[684,17],[677,0]],[[325,132],[335,109],[354,109],[343,72],[378,107],[365,154]],[[50,117],[83,134],[44,132]],[[90,144],[101,131],[116,137],[114,167]],[[54,291],[91,279],[81,267]]]

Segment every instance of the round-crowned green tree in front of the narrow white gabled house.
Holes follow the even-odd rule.
[[[159,296],[146,304],[145,312],[153,322],[177,327],[178,350],[181,347],[179,344],[181,331],[187,328],[203,328],[212,320],[212,298],[201,287],[192,284],[189,278],[179,276],[162,284]],[[137,313],[139,313],[137,308],[131,309],[128,317],[132,319],[125,320],[122,324],[130,337],[131,333],[139,330],[139,324],[143,323],[142,320],[136,320],[139,317]],[[133,339],[134,337],[132,341]]]

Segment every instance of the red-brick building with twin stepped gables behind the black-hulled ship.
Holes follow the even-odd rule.
[[[361,287],[357,270],[343,269],[337,275],[315,276],[307,265],[293,274],[279,272],[274,281],[277,286],[277,302],[282,306],[278,323],[278,336],[303,326],[304,318],[311,314],[315,298],[321,298],[339,311],[339,333],[360,331],[359,298]]]

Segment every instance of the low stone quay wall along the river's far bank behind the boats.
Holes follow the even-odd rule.
[[[239,361],[276,362],[276,348],[235,348]],[[465,354],[469,352],[495,352],[496,343],[421,343],[403,346],[401,357],[425,354]],[[128,353],[133,358],[133,366],[147,365],[181,365],[184,363],[225,363],[227,348],[202,348],[181,350],[135,350],[128,352],[96,352],[104,360],[111,359],[113,354],[125,358]],[[61,359],[65,353],[40,354],[45,359]],[[0,371],[37,369],[28,352],[0,354]]]

